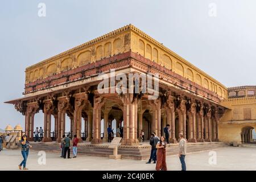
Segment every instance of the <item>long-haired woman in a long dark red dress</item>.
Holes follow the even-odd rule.
[[[157,149],[157,159],[156,159],[156,171],[167,171],[166,165],[166,147],[167,142],[165,141],[164,137],[160,138],[160,141],[156,144]]]

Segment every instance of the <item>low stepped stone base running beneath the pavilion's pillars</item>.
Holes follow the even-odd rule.
[[[54,142],[31,142],[31,150],[35,151],[48,151],[57,152],[60,154],[60,144]],[[214,150],[216,148],[228,146],[222,142],[212,142],[212,143],[188,143],[187,153],[200,152],[207,150]],[[113,154],[113,148],[108,148],[109,144],[85,144],[79,143],[77,147],[78,155],[87,156],[101,156],[109,157]],[[72,148],[71,148],[72,149]],[[143,144],[140,146],[118,146],[118,154],[122,155],[122,159],[134,159],[134,160],[146,160],[150,157],[151,146],[149,144]],[[179,144],[168,144],[167,155],[177,155],[179,153]],[[71,150],[72,154],[72,150]]]

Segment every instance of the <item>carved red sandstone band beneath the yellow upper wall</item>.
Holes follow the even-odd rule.
[[[110,60],[115,60],[115,58],[118,57],[118,61],[114,61],[114,63],[110,64]],[[203,97],[205,99],[214,101],[216,103],[220,102],[220,96],[218,96],[216,93],[211,92],[208,89],[203,88],[200,85],[195,84],[192,81],[189,81],[185,79],[184,77],[181,77],[180,75],[177,75],[177,73],[174,73],[170,71],[167,68],[164,68],[157,63],[154,63],[153,61],[147,60],[141,55],[138,55],[137,53],[133,52],[126,52],[122,53],[120,55],[116,55],[101,61],[98,61],[97,63],[92,63],[88,65],[84,65],[83,67],[76,68],[72,71],[67,71],[67,74],[65,72],[60,73],[60,75],[55,75],[51,78],[51,80],[41,80],[40,82],[31,82],[26,86],[26,93],[32,93],[32,92],[37,92],[40,91],[41,89],[49,89],[55,86],[63,85],[63,84],[69,84],[71,82],[79,81],[86,79],[87,76],[94,77],[97,76],[96,71],[99,69],[100,72],[108,72],[111,68],[116,68],[116,69],[126,69],[128,67],[133,67],[134,69],[137,69],[139,72],[159,72],[160,77],[162,77],[162,80],[164,82],[168,82],[169,84],[174,84],[177,88],[182,88],[184,90],[187,90],[191,93],[195,93],[200,97]],[[81,74],[80,72],[84,72],[84,74]],[[62,75],[64,74],[64,75]],[[82,76],[84,75],[84,76]],[[69,79],[63,79],[63,76],[69,77]],[[57,82],[57,85],[54,85],[53,83],[56,83],[56,79],[63,79],[62,82]],[[48,85],[51,85],[48,87]],[[33,89],[35,88],[35,90]],[[38,88],[38,89],[37,89]],[[40,89],[41,88],[41,89]],[[39,97],[41,94],[35,94],[34,96],[31,97],[26,97],[27,100],[30,100],[31,98],[34,97]],[[23,100],[24,99],[20,99]],[[15,100],[15,101],[10,101],[6,103],[16,103],[17,101],[20,100]]]

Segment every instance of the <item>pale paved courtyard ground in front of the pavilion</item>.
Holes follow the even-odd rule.
[[[215,150],[216,164],[209,164],[209,151],[187,154],[187,170],[256,170],[256,148],[225,147]],[[31,170],[155,170],[155,164],[145,164],[146,160],[113,160],[92,156],[78,156],[75,159],[62,159],[58,154],[47,153],[46,164],[38,163],[38,152],[30,151],[27,167]],[[210,158],[212,159],[212,158]],[[22,161],[19,150],[0,152],[0,170],[18,170]],[[214,160],[210,160],[214,163]],[[168,170],[180,170],[177,156],[167,157]]]

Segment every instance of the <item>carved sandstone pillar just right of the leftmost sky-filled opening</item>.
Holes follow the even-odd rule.
[[[53,102],[51,100],[44,101],[44,138],[42,142],[51,142],[51,117],[53,111]]]

